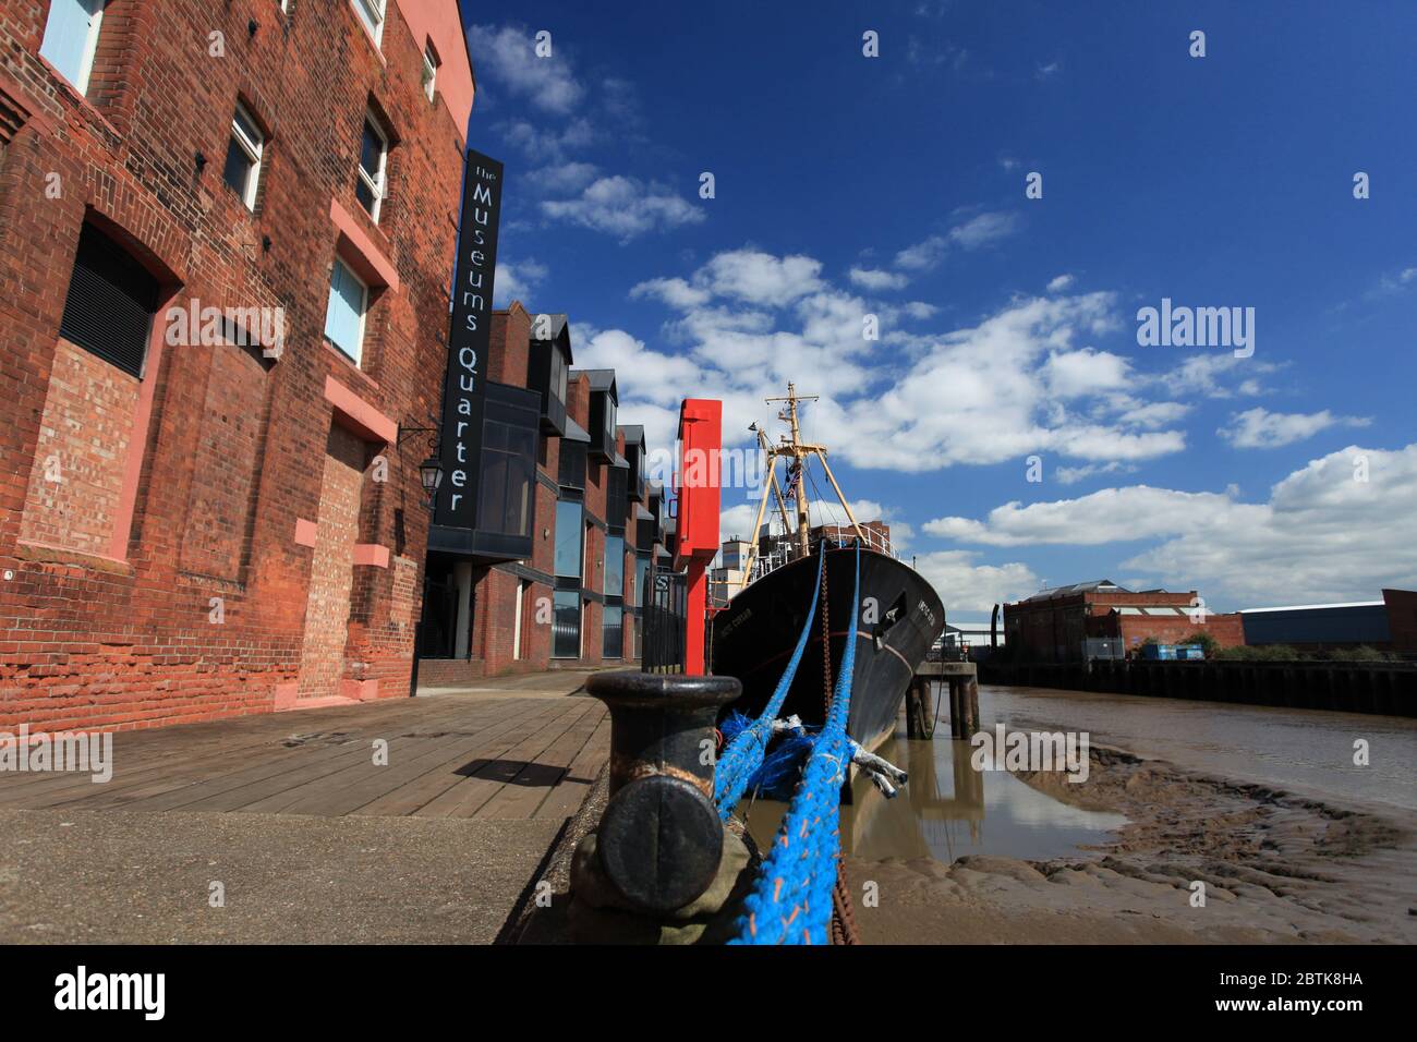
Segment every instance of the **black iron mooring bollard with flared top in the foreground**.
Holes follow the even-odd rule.
[[[723,822],[713,802],[714,724],[743,693],[731,676],[595,673],[587,690],[611,710],[609,802],[599,866],[650,913],[689,904],[714,882]]]

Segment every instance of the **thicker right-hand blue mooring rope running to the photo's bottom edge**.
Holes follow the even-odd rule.
[[[825,554],[823,554],[825,557]],[[832,889],[840,851],[840,792],[850,764],[852,672],[860,614],[862,547],[856,544],[852,628],[836,676],[826,723],[812,746],[802,781],[778,828],[772,851],[743,902],[733,944],[826,944],[832,921]]]

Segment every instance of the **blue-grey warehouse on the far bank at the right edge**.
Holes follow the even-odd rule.
[[[1417,651],[1417,593],[1383,590],[1380,601],[1294,604],[1240,612],[1246,644]]]

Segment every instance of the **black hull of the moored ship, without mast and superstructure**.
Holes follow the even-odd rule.
[[[850,631],[854,564],[854,547],[826,554],[833,679]],[[769,571],[714,615],[713,672],[737,676],[743,683],[743,698],[730,709],[747,716],[762,712],[806,622],[816,567],[813,554]],[[869,604],[867,598],[876,601],[877,621],[857,621],[847,733],[874,749],[894,732],[911,676],[945,627],[945,610],[930,583],[914,568],[863,549],[863,605]],[[894,617],[890,615],[893,608]],[[820,723],[823,707],[822,620],[818,615],[779,716],[796,715],[805,723]]]

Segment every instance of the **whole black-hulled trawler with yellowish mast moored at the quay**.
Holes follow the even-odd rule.
[[[778,713],[820,724],[850,634],[859,546],[862,614],[847,733],[871,750],[894,733],[896,716],[915,668],[945,627],[945,610],[930,583],[896,557],[888,529],[879,520],[857,522],[826,462],[826,447],[802,441],[798,407],[816,398],[799,396],[789,383],[786,397],[767,401],[786,403],[778,418],[788,424],[789,434],[774,445],[754,425],[767,455],[758,516],[741,583],[713,615],[711,669],[743,683],[743,696],[728,709],[757,717],[784,675],[806,624],[818,583],[818,554],[825,553],[816,618]],[[779,461],[785,465],[784,483],[777,476]],[[820,466],[846,523],[813,527],[808,495],[813,483],[811,465]],[[782,522],[778,534],[768,534],[762,527],[769,496]]]

